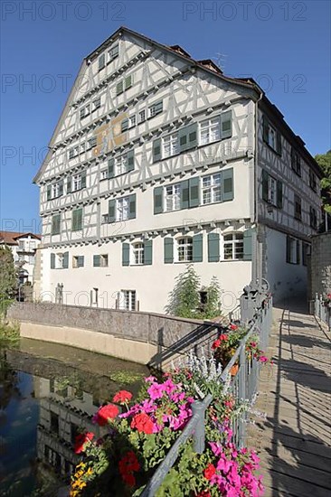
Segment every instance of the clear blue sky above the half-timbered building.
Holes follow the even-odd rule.
[[[0,230],[39,230],[33,176],[81,60],[120,25],[213,59],[229,76],[252,76],[312,155],[330,148],[328,1],[0,5]]]

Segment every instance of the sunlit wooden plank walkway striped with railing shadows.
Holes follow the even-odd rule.
[[[297,307],[275,308],[247,444],[261,459],[265,497],[331,497],[330,333]]]

